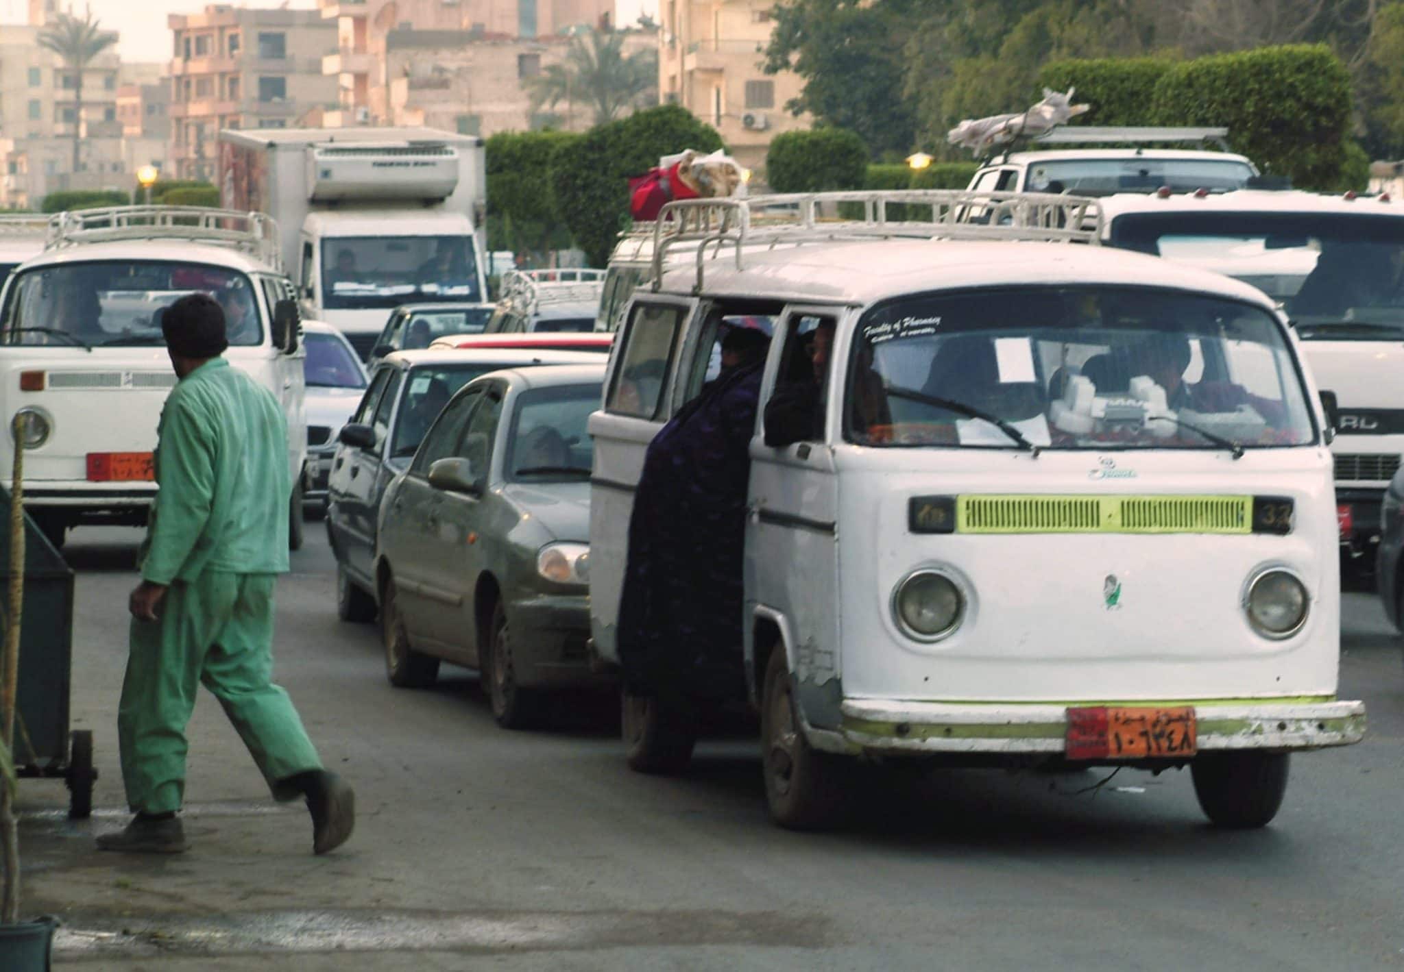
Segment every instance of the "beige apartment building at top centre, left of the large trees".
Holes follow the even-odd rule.
[[[767,74],[765,45],[774,0],[663,0],[658,35],[658,95],[680,104],[722,133],[737,160],[765,168],[771,139],[807,129],[785,102],[800,94],[793,72]]]

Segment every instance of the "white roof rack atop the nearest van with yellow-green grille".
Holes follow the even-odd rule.
[[[887,216],[887,206],[903,206]],[[862,206],[862,217],[845,217]],[[844,209],[841,209],[844,208]],[[828,217],[826,209],[838,212]],[[913,209],[918,217],[911,219]],[[924,213],[922,213],[924,210]],[[894,216],[899,213],[894,213]],[[922,219],[921,215],[929,215]],[[1098,245],[1102,208],[1097,199],[1045,192],[972,192],[965,189],[893,189],[866,192],[802,192],[748,199],[687,199],[663,206],[653,226],[653,289],[661,286],[668,250],[696,250],[696,283],[703,266],[736,254],[736,269],[755,248],[802,247],[841,240],[1040,240]]]

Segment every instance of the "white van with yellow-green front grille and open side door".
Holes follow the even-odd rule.
[[[823,825],[855,759],[927,757],[1188,766],[1213,822],[1265,825],[1290,752],[1365,729],[1337,698],[1330,433],[1296,337],[1244,283],[1049,241],[1097,243],[1092,201],[994,201],[1007,219],[970,227],[951,215],[990,199],[928,195],[939,227],[799,206],[748,231],[746,201],[675,203],[713,216],[678,219],[680,243],[733,245],[685,269],[657,254],[611,353],[590,424],[598,659],[622,655],[650,440],[699,394],[720,318],[765,313],[740,644],[701,651],[760,708],[772,816]],[[765,445],[765,407],[804,382],[814,432]],[[653,771],[684,766],[691,713],[726,701],[636,691],[625,738]]]

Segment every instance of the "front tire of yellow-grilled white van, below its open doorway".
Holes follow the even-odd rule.
[[[771,819],[792,830],[819,830],[848,811],[841,757],[809,745],[795,714],[789,665],[776,647],[765,665],[761,696],[761,769]]]

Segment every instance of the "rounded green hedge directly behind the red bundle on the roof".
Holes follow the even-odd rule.
[[[604,266],[630,226],[629,180],[684,149],[715,151],[722,136],[687,108],[660,105],[598,125],[550,153],[550,181],[571,237],[594,266]],[[489,181],[490,182],[490,181]]]

